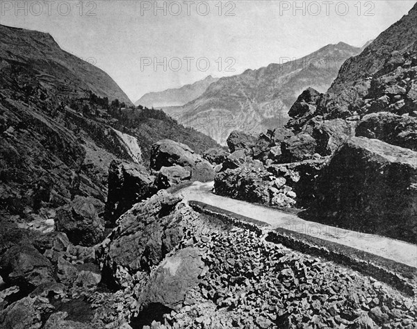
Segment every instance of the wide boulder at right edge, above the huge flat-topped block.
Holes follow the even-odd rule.
[[[417,151],[417,118],[390,112],[371,113],[361,119],[356,135]]]

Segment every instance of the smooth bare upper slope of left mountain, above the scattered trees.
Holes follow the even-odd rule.
[[[83,90],[91,90],[131,105],[106,72],[60,49],[49,33],[0,25],[0,58],[30,65],[38,71],[41,83],[55,85],[65,95],[79,96]]]

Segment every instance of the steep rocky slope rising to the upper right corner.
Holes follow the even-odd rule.
[[[322,97],[319,112],[404,114],[415,110],[417,7],[381,33],[358,56],[347,60]]]

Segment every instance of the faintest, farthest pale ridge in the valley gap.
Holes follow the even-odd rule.
[[[190,85],[183,85],[179,88],[167,89],[163,92],[149,92],[136,101],[135,105],[146,106],[147,108],[161,108],[165,106],[183,106],[201,96],[207,87],[218,81],[218,78],[207,76],[201,81]]]

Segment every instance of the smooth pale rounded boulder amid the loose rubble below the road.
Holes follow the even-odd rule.
[[[187,292],[197,286],[203,269],[202,251],[199,248],[183,248],[165,258],[140,294],[140,307],[158,303],[178,310]]]

